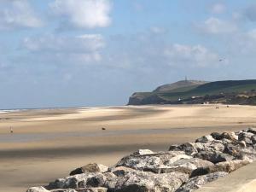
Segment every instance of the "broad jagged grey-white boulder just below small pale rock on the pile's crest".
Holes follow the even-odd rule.
[[[165,172],[172,163],[181,159],[190,159],[191,156],[183,151],[160,152],[158,154],[131,154],[119,160],[116,166],[126,166],[135,170],[160,173]]]

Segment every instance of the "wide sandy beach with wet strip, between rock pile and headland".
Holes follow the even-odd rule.
[[[212,131],[241,130],[256,125],[255,117],[256,107],[221,105],[0,113],[0,191],[26,191],[90,162],[111,166],[137,148],[166,150]]]

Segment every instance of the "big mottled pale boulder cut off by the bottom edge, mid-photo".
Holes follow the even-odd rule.
[[[180,172],[155,174],[153,172],[128,172],[124,177],[118,177],[115,192],[175,192],[189,176]]]

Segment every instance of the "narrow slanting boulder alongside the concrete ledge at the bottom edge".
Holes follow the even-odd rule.
[[[190,192],[199,189],[202,185],[210,183],[219,177],[224,177],[227,174],[227,172],[213,172],[204,176],[192,177],[180,189],[177,189],[176,192]]]

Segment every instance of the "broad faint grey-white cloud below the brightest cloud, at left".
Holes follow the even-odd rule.
[[[100,61],[100,51],[104,46],[104,39],[99,34],[84,34],[78,37],[47,35],[25,38],[22,43],[22,47],[32,53],[38,53],[42,57],[47,55],[52,61],[65,63]]]

